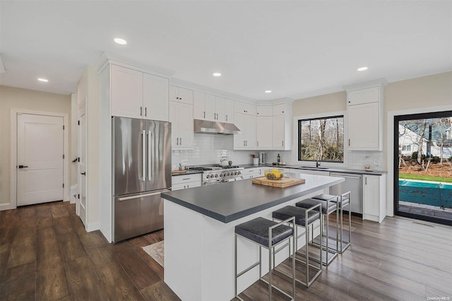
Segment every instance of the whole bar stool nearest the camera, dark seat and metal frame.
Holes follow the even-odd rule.
[[[272,254],[273,254],[273,266],[275,254],[285,247],[289,247],[290,254],[290,240],[292,239],[292,244],[295,245],[295,235],[294,230],[287,226],[283,225],[284,223],[292,222],[294,223],[295,218],[292,216],[283,220],[280,223],[276,223],[273,220],[267,220],[266,218],[254,218],[254,220],[249,220],[248,222],[242,223],[240,225],[235,226],[235,247],[234,247],[234,264],[235,264],[235,279],[234,279],[234,292],[235,297],[237,299],[242,300],[241,297],[237,295],[237,278],[242,276],[247,271],[250,271],[251,268],[259,266],[259,279],[268,284],[268,300],[271,301],[272,288],[278,290],[278,292],[286,295],[287,297],[295,300],[295,256],[292,254],[292,296],[285,293],[280,288],[275,287],[272,284]],[[255,264],[252,264],[248,268],[245,268],[240,273],[237,273],[237,237],[244,237],[246,240],[257,244],[259,247],[259,261]],[[275,250],[275,247],[278,247],[280,244],[283,244],[282,247]],[[261,250],[262,247],[268,249],[268,282],[265,281],[261,275]],[[243,300],[242,300],[243,301]]]

